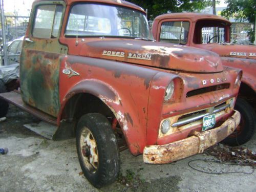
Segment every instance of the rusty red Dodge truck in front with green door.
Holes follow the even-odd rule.
[[[55,125],[53,139],[76,137],[83,174],[101,187],[118,176],[119,139],[152,164],[225,139],[240,121],[241,78],[216,53],[156,42],[134,4],[36,0],[20,86],[0,94],[1,114],[10,102]]]

